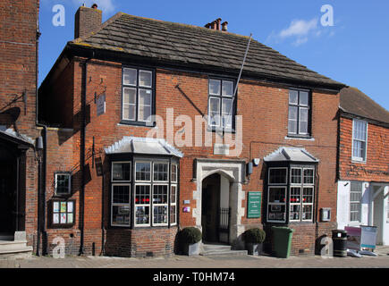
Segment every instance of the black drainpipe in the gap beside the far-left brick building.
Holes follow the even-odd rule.
[[[38,19],[38,15],[37,15]],[[37,24],[38,25],[38,24]],[[47,255],[47,228],[46,228],[46,173],[47,173],[47,125],[38,122],[38,46],[41,33],[37,27],[35,47],[35,124],[43,128],[43,156],[38,161],[38,233],[37,255],[39,256],[40,240],[42,240],[42,255]],[[42,236],[42,237],[41,237]]]

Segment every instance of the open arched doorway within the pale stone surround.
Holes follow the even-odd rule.
[[[214,173],[202,181],[201,226],[203,241],[229,243],[230,181]]]

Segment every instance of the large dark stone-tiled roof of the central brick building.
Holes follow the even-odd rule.
[[[76,38],[69,44],[172,63],[239,71],[248,41],[249,37],[230,32],[117,13],[101,29],[84,38]],[[310,71],[254,39],[249,46],[244,71],[276,80],[293,80],[331,88],[345,86]]]

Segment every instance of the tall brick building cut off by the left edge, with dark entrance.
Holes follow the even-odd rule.
[[[0,240],[9,240],[2,242],[0,255],[30,252],[42,226],[42,154],[35,147],[41,136],[36,125],[38,8],[39,1],[0,3]]]

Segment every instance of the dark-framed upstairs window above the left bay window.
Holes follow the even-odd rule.
[[[123,68],[122,121],[151,122],[154,114],[154,72]]]

